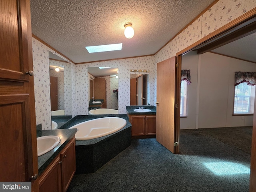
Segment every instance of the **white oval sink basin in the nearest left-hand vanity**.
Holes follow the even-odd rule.
[[[60,143],[60,138],[54,135],[38,137],[36,140],[38,157],[52,150]]]

